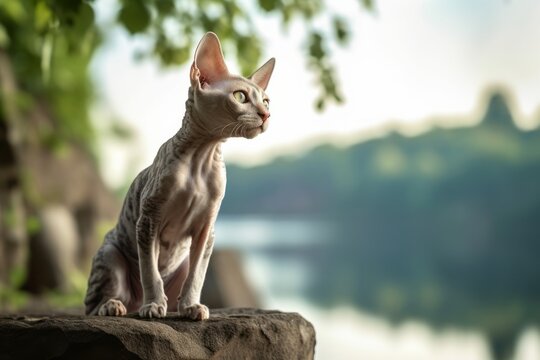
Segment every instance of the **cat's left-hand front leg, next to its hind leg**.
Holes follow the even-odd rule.
[[[149,215],[141,215],[137,221],[136,231],[143,289],[143,305],[139,309],[139,315],[144,318],[162,318],[167,315],[167,297],[157,265],[156,219]]]

